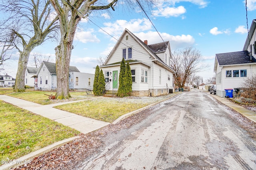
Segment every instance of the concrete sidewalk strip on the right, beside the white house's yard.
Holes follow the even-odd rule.
[[[216,100],[222,102],[223,104],[225,104],[226,106],[236,110],[237,112],[239,112],[240,114],[244,115],[246,118],[252,120],[253,122],[256,122],[256,113],[252,112],[242,106],[239,106],[238,104],[235,104],[233,102],[230,102],[228,99],[226,98],[222,98],[220,96],[211,94],[212,97],[214,97]]]

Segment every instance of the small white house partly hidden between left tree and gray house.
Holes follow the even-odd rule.
[[[25,73],[25,85],[26,86],[31,86],[31,87],[36,87],[37,86],[37,81],[35,79],[36,73],[38,72],[39,68],[35,67],[27,67],[26,73]]]

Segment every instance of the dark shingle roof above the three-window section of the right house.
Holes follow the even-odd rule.
[[[256,62],[256,59],[252,56],[250,60],[250,55],[248,51],[238,51],[238,52],[228,52],[222,54],[216,54],[216,58],[220,66],[230,65],[230,64],[246,64]]]

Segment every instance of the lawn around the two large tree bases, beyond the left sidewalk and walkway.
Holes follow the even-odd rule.
[[[49,100],[48,96],[44,94],[53,94],[55,95],[56,92],[49,92],[49,91],[39,91],[34,89],[26,89],[26,92],[23,93],[16,93],[13,90],[7,91],[5,94],[11,97],[20,98],[23,100],[27,100],[30,102],[38,103],[38,104],[53,104],[60,102],[59,100]],[[70,92],[72,100],[80,100],[88,97],[92,97],[91,95],[87,95],[86,92]]]

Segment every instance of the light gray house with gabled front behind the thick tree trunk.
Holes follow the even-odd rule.
[[[36,74],[38,90],[55,90],[57,87],[56,64],[42,62]],[[75,66],[69,66],[70,89],[92,89],[94,74],[81,73]]]

